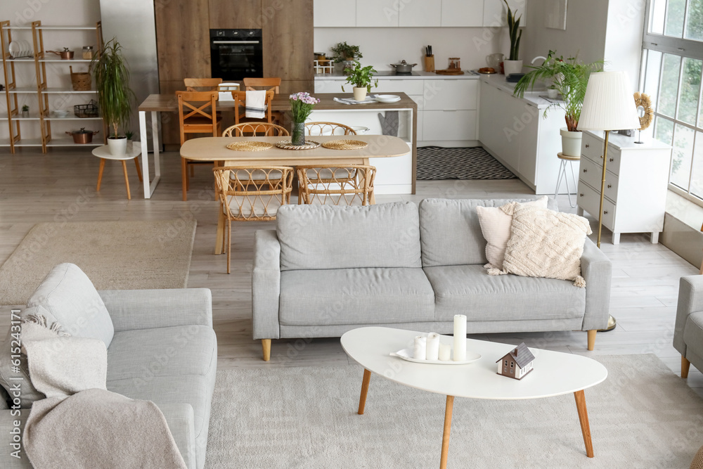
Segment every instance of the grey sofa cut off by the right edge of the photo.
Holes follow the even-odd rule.
[[[673,347],[681,353],[681,378],[693,364],[703,371],[703,276],[681,277]]]

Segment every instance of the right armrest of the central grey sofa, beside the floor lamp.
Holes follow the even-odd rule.
[[[605,329],[610,316],[612,262],[586,238],[581,256],[581,276],[586,280],[586,314],[582,330]]]

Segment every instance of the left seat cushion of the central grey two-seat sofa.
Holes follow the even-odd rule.
[[[280,273],[283,326],[432,321],[434,292],[423,269],[337,269]]]

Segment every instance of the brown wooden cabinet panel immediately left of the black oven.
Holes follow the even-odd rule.
[[[207,0],[157,2],[156,43],[159,79],[210,76]]]

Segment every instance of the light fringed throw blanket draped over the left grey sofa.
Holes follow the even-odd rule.
[[[186,468],[160,409],[105,389],[102,340],[70,337],[44,316],[22,324],[35,401],[23,441],[34,468]]]

